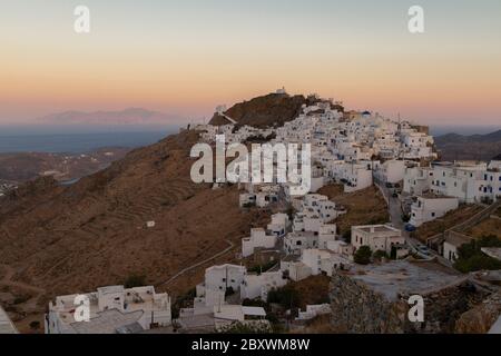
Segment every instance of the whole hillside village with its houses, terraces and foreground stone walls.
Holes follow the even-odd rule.
[[[287,96],[285,89],[275,95]],[[443,162],[426,127],[370,111],[344,111],[342,102],[317,96],[311,102],[279,127],[239,125],[219,107],[217,113],[226,122],[190,128],[199,132],[200,142],[208,144],[215,142],[216,135],[225,135],[228,144],[264,139],[312,145],[307,195],[292,195],[289,184],[238,184],[235,205],[243,210],[273,211],[269,224],[252,228],[242,239],[239,263],[208,267],[194,295],[176,312],[168,294],[158,294],[151,286],[109,286],[88,294],[91,322],[78,323],[73,317],[76,296],[57,297],[46,316],[46,333],[230,333],[237,328],[266,333],[276,330],[277,325],[307,332],[313,320],[322,318],[332,327],[330,332],[453,332],[442,315],[453,308],[460,319],[470,309],[464,298],[481,303],[490,297],[501,313],[495,286],[499,273],[474,276],[453,268],[460,247],[469,243],[464,236],[461,244],[454,244],[459,234],[440,231],[430,240],[419,236],[422,226],[465,205],[480,207],[478,221],[495,216],[501,161]],[[336,221],[350,208],[321,194],[334,186],[343,194],[375,187],[390,219],[353,225],[347,234],[341,234]],[[224,184],[214,184],[213,189],[224,189]],[[500,260],[500,248],[485,251]],[[248,261],[258,261],[258,268],[250,268]],[[281,291],[322,276],[331,279],[328,298],[322,304],[305,305],[293,314],[292,308],[276,310],[284,304]],[[459,293],[465,288],[470,291]],[[436,306],[430,319],[419,325],[409,325],[403,317],[402,303],[412,294],[429,295]],[[365,298],[369,312],[380,312],[371,317],[369,312],[358,313],[365,306],[354,296]],[[446,300],[456,304],[446,305]],[[400,310],[400,318],[387,322],[384,313],[394,309]],[[387,323],[381,326],[379,318]]]

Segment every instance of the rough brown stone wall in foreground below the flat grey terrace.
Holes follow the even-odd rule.
[[[454,333],[463,313],[481,303],[487,294],[468,280],[423,294],[424,322],[407,318],[409,297],[402,294],[389,300],[364,283],[337,273],[331,280],[332,327],[353,334]]]

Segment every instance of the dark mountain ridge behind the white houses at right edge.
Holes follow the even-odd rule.
[[[501,130],[487,135],[446,134],[435,138],[443,160],[490,160],[501,155]]]

